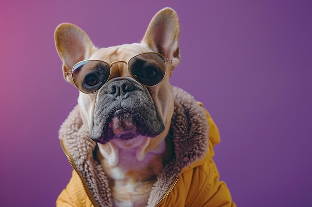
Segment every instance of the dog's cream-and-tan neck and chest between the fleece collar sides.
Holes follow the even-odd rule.
[[[140,141],[133,140],[132,144],[135,143]],[[111,142],[110,145],[115,145],[115,149],[111,150],[117,150],[118,153],[108,154],[108,146],[98,144],[97,159],[108,177],[114,206],[146,206],[157,176],[163,165],[172,157],[170,139],[163,139],[158,147],[146,153],[143,159],[142,156],[138,156],[141,145],[133,148],[126,148],[125,145],[117,147],[116,142]],[[117,158],[112,158],[113,156]]]

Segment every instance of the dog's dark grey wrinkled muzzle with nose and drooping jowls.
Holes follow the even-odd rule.
[[[99,91],[89,138],[102,144],[116,138],[155,138],[164,131],[152,97],[132,78],[113,78]],[[101,134],[100,134],[101,133]]]

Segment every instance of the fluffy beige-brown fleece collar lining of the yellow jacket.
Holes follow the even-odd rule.
[[[174,157],[164,166],[152,188],[148,207],[155,206],[182,169],[202,159],[208,149],[206,115],[194,98],[180,88],[173,87],[174,112],[169,136],[174,144]],[[102,166],[93,159],[96,142],[88,138],[88,130],[83,125],[79,106],[69,114],[59,130],[59,138],[68,149],[78,173],[86,181],[87,187],[99,207],[112,207],[107,177]]]

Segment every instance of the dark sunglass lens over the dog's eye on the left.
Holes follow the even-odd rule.
[[[110,66],[103,61],[82,61],[73,68],[73,80],[82,92],[94,93],[108,80],[110,71]]]

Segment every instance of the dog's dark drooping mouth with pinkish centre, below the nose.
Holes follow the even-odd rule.
[[[138,136],[153,138],[161,133],[149,133],[144,122],[143,117],[139,113],[129,112],[127,109],[114,109],[104,123],[102,136],[93,140],[106,144],[112,139],[124,141]]]

